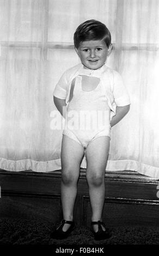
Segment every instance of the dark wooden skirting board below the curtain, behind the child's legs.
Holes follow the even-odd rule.
[[[59,222],[62,218],[60,179],[60,171],[0,170],[0,217]],[[106,172],[105,186],[103,221],[110,227],[158,225],[159,180],[128,170]],[[74,215],[77,225],[90,225],[91,207],[84,169],[79,176]]]

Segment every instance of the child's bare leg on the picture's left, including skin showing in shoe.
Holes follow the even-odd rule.
[[[74,216],[74,204],[77,195],[77,181],[79,178],[80,164],[84,155],[82,145],[68,136],[63,135],[62,140],[62,182],[61,199],[63,217],[66,221],[72,221]],[[70,224],[64,224],[66,231]]]

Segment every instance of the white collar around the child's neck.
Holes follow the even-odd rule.
[[[106,71],[106,69],[107,69],[106,65],[103,65],[100,69],[85,69],[84,66],[82,65],[78,75],[94,76],[94,77],[100,78],[103,72]]]

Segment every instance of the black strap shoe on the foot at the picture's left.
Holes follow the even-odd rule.
[[[68,228],[68,230],[63,231],[63,227],[64,227],[65,223],[70,224],[70,227]],[[74,229],[74,227],[75,227],[75,222],[74,221],[62,220],[59,227],[51,233],[51,238],[53,238],[53,239],[65,239],[70,235],[70,233]]]

